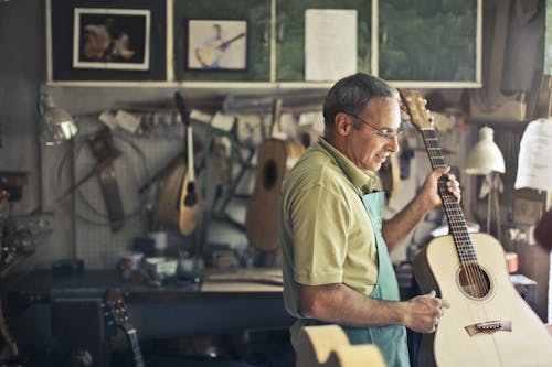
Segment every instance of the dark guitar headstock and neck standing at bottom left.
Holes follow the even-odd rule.
[[[138,343],[138,333],[130,323],[129,313],[120,295],[119,290],[110,288],[106,292],[107,299],[107,315],[113,316],[117,326],[125,333],[130,350],[132,353],[132,360],[135,367],[145,367],[141,356],[140,344]]]

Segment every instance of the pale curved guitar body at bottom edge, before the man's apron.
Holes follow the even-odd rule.
[[[374,344],[351,345],[338,325],[305,326],[297,346],[297,367],[385,367]]]

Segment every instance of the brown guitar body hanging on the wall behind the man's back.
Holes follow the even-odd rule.
[[[262,251],[278,248],[278,196],[287,172],[305,148],[296,142],[266,139],[259,148],[253,195],[247,204],[245,231]]]

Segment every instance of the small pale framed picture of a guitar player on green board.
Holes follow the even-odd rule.
[[[245,71],[246,20],[189,20],[188,69]]]

